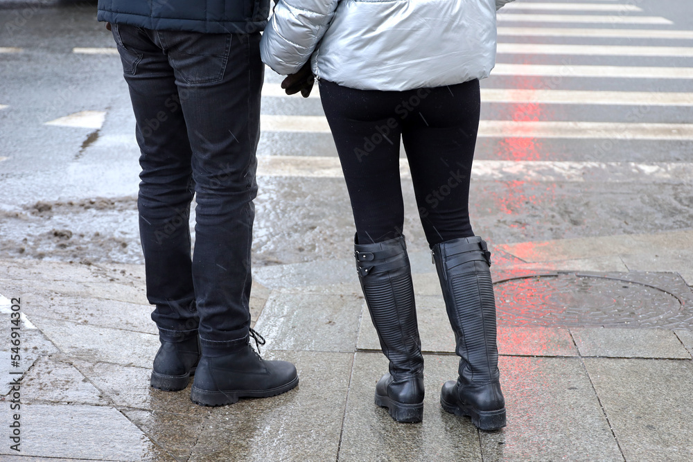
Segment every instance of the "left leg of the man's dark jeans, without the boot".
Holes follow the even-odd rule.
[[[146,30],[113,25],[141,150],[139,224],[152,319],[167,336],[198,328],[188,217],[191,149],[173,69]]]

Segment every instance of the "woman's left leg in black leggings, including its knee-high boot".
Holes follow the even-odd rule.
[[[400,422],[423,418],[423,356],[402,226],[401,124],[397,92],[320,82],[320,94],[347,181],[357,236],[354,256],[371,320],[389,359],[376,405]]]

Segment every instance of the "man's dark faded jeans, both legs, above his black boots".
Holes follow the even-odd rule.
[[[247,341],[260,34],[112,25],[141,149],[139,224],[161,337],[228,350]],[[195,249],[188,231],[196,194]],[[199,326],[198,326],[199,323]]]

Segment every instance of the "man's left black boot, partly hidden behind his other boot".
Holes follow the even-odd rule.
[[[154,358],[150,384],[165,391],[178,391],[188,386],[190,376],[200,359],[200,340],[197,330],[159,334],[161,346]]]

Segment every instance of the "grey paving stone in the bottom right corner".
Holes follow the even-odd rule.
[[[584,361],[626,461],[691,460],[692,362]]]

